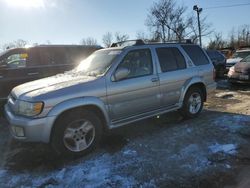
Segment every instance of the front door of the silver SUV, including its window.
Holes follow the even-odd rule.
[[[158,75],[150,49],[129,51],[118,65],[129,70],[125,79],[107,79],[107,100],[113,122],[149,113],[160,107]]]

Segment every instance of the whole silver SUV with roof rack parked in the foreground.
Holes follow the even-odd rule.
[[[197,45],[113,46],[70,72],[15,87],[5,105],[13,137],[81,155],[105,130],[174,110],[196,117],[216,86],[213,65]]]

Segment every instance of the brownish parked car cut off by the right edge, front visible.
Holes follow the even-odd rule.
[[[250,84],[250,55],[229,69],[228,80],[231,83]]]

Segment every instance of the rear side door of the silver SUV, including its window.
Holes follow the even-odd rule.
[[[185,82],[191,77],[186,61],[177,47],[155,49],[160,65],[161,106],[171,108],[178,104]]]

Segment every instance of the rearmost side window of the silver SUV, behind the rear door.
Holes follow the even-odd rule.
[[[209,60],[199,46],[182,45],[182,48],[189,55],[195,65],[209,64]]]

